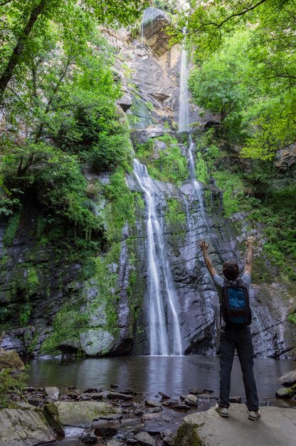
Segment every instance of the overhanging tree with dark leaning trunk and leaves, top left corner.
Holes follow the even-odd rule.
[[[75,39],[79,41],[84,32],[80,24],[81,14],[78,14],[79,10],[83,11],[85,16],[88,16],[88,21],[95,19],[97,24],[127,24],[134,16],[139,14],[142,7],[146,6],[146,1],[82,0],[78,3],[76,0],[16,0],[13,4],[4,1],[0,6],[3,9],[2,14],[6,17],[1,33],[2,35],[11,34],[9,44],[2,51],[6,58],[4,58],[0,77],[1,98],[9,81],[11,81],[16,66],[23,58],[32,31],[42,33],[43,24],[48,19],[63,24],[65,35],[68,35],[72,41],[75,41]],[[18,18],[18,27],[16,27],[13,19],[16,17]],[[9,22],[11,19],[13,26],[10,28]],[[74,35],[71,35],[71,31]]]

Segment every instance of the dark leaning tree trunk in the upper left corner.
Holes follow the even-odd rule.
[[[31,12],[30,18],[28,19],[28,23],[26,24],[26,27],[21,32],[21,35],[18,38],[18,43],[16,43],[16,46],[14,47],[14,51],[11,54],[11,57],[9,59],[9,62],[7,63],[6,69],[4,73],[2,73],[0,78],[0,98],[3,96],[4,91],[6,90],[7,84],[11,80],[13,74],[14,74],[14,68],[16,68],[16,65],[18,64],[18,60],[23,54],[23,50],[26,46],[26,41],[28,40],[28,36],[30,35],[32,28],[38,19],[38,16],[42,14],[46,3],[48,0],[41,0],[39,1],[38,5],[35,6],[33,11]]]

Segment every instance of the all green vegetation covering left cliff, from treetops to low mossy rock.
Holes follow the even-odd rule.
[[[30,247],[9,275],[11,256],[1,261],[0,323],[28,326],[36,301],[44,299],[45,320],[56,314],[44,351],[77,338],[97,311],[85,310],[75,279],[86,288],[92,279],[100,282],[97,299],[110,298],[107,328],[116,327],[118,294],[110,293],[117,274],[110,282],[103,277],[119,261],[122,230],[134,224],[139,199],[125,181],[132,146],[116,105],[122,93],[115,50],[97,25],[127,24],[144,4],[26,0],[0,6],[0,218],[9,253],[16,237]],[[57,293],[63,298],[53,303]]]

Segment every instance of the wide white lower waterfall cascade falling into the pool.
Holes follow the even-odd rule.
[[[157,187],[149,177],[147,167],[134,160],[134,176],[144,192],[147,205],[147,246],[149,281],[149,343],[150,355],[181,355],[182,343],[177,296],[171,276],[162,231],[162,219],[157,216]],[[169,328],[171,323],[171,328]],[[170,342],[172,333],[172,342]]]

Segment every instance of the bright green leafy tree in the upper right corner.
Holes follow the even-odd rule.
[[[191,8],[179,16],[179,30],[186,24],[196,63],[213,64],[215,58],[218,63],[217,55],[233,33],[238,36],[245,28],[249,29],[245,56],[250,70],[243,84],[251,100],[241,117],[246,156],[272,159],[277,150],[296,141],[295,8],[295,0],[213,0],[207,4],[192,0]],[[181,34],[175,33],[174,38],[178,40]],[[222,76],[221,70],[218,73]],[[242,85],[235,73],[224,74]],[[218,79],[222,87],[221,76]],[[227,85],[226,80],[223,85]],[[213,92],[210,93],[213,97]],[[224,93],[227,93],[225,88]],[[228,95],[226,101],[231,105]],[[213,104],[203,106],[211,108]]]

